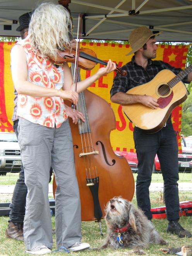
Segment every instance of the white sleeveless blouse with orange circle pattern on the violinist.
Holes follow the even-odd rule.
[[[29,38],[17,42],[27,57],[27,81],[46,88],[61,89],[63,67],[56,67],[48,58],[34,55]],[[13,46],[14,47],[14,46]],[[60,97],[32,97],[18,94],[17,116],[46,127],[60,127],[67,119],[63,99]]]

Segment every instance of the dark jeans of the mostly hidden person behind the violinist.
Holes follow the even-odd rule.
[[[18,122],[19,120],[14,121],[13,129],[18,139]],[[50,168],[50,181],[51,175],[53,174],[53,169]],[[18,222],[23,223],[25,215],[25,204],[27,196],[27,186],[24,182],[24,168],[21,165],[21,171],[19,173],[19,179],[17,180],[12,196],[12,203],[10,203],[10,213],[8,222]]]

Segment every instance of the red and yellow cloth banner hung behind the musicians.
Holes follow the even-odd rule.
[[[15,42],[0,42],[0,131],[12,131],[12,113],[14,87],[10,72],[10,48]],[[85,43],[81,46],[93,50],[97,57],[101,60],[108,61],[111,59],[122,67],[130,61],[131,56],[125,56],[130,51],[130,45],[114,44],[114,43]],[[175,67],[184,69],[187,56],[187,45],[158,45],[157,60],[163,60]],[[99,67],[103,65],[97,64],[93,70],[82,70],[81,79],[85,79],[94,74]],[[89,90],[104,98],[113,108],[116,117],[116,129],[111,132],[111,145],[114,150],[134,151],[133,128],[134,125],[127,119],[122,111],[122,106],[111,103],[110,89],[113,84],[115,72],[107,76],[100,77],[89,87]],[[172,122],[177,132],[178,145],[180,146],[180,128],[181,128],[181,112],[182,107],[176,107],[172,112]],[[105,115],[103,110],[102,115]],[[106,119],[108,117],[106,116]]]

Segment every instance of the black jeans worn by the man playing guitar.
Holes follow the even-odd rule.
[[[134,142],[138,158],[136,182],[138,207],[144,211],[149,220],[152,218],[149,186],[151,184],[154,158],[157,154],[164,180],[167,219],[169,221],[178,220],[178,145],[171,122],[154,134],[146,134],[135,127]]]

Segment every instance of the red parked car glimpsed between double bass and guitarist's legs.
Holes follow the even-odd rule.
[[[126,152],[126,151],[115,151],[115,154],[118,156],[124,156],[127,159],[127,162],[129,163],[129,166],[132,170],[132,172],[137,172],[138,170],[138,160],[137,160],[137,154],[135,152]],[[153,165],[153,172],[159,172],[161,170],[158,156],[155,156],[155,161]]]

